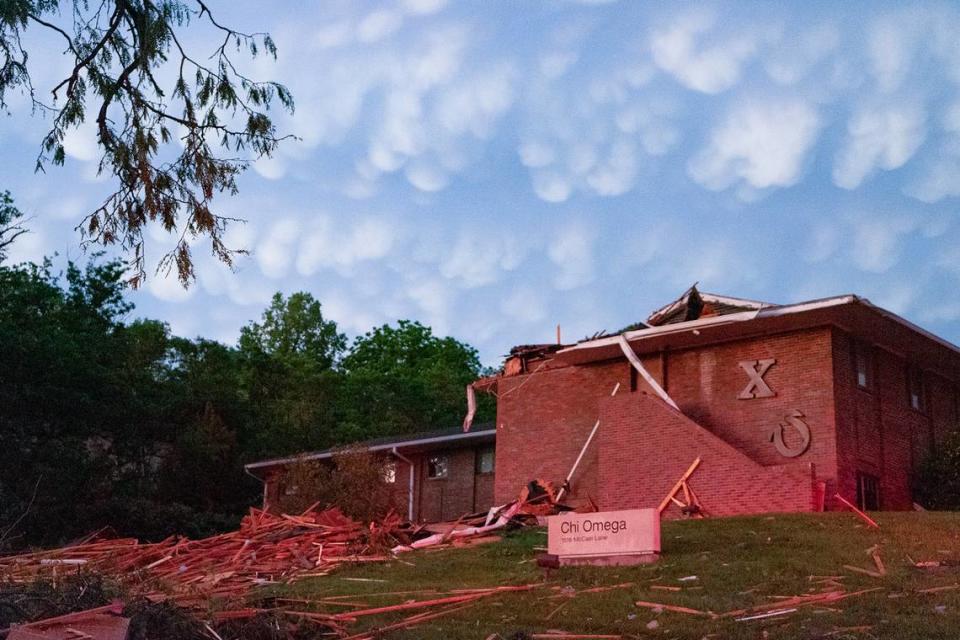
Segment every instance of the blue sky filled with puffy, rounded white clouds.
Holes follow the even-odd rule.
[[[152,276],[134,315],[232,342],[274,291],[305,290],[348,334],[417,319],[494,364],[700,281],[858,293],[960,342],[955,5],[238,4],[213,6],[273,35],[278,60],[247,68],[291,88],[278,123],[301,140],[218,202],[251,256],[230,272],[198,243],[194,286]],[[73,227],[110,188],[93,133],[35,175],[45,123],[11,110],[0,188],[34,216],[14,257],[82,260]],[[148,237],[155,263],[170,242]]]

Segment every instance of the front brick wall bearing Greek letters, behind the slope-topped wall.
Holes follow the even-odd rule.
[[[791,461],[814,464],[820,479],[832,482],[836,477],[830,329],[762,336],[641,357],[644,366],[687,417],[749,459],[762,466]],[[764,376],[776,395],[738,399],[749,381],[738,363],[764,358],[777,361]],[[512,499],[519,488],[533,478],[562,481],[600,416],[601,403],[614,385],[621,383],[618,396],[648,390],[641,378],[636,385],[638,390],[631,393],[630,381],[630,367],[625,358],[503,378],[497,405],[496,502]],[[799,458],[788,459],[770,442],[770,430],[794,410],[804,414],[811,442]],[[634,428],[657,429],[659,425],[648,427],[637,423]],[[605,429],[601,421],[599,433]],[[787,429],[784,433],[792,444],[793,430]],[[596,498],[601,490],[599,446],[591,445],[578,468],[571,493],[573,503]]]

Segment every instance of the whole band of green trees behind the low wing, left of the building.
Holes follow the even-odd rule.
[[[480,371],[473,348],[413,322],[348,348],[307,293],[275,296],[237,347],[187,340],[130,318],[124,273],[0,265],[0,549],[235,527],[261,495],[245,463],[457,424]],[[379,464],[337,468],[324,486],[382,510],[354,482]]]

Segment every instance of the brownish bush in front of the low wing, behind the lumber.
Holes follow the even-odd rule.
[[[301,513],[319,502],[361,522],[379,520],[397,504],[396,485],[386,482],[385,465],[383,457],[361,448],[342,450],[332,464],[301,460],[287,471],[284,482],[296,489],[280,496],[280,510]]]

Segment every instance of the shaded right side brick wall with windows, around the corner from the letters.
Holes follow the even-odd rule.
[[[924,371],[926,406],[917,411],[908,401],[906,358],[866,345],[872,376],[863,389],[856,381],[854,338],[836,330],[833,345],[840,493],[852,501],[857,472],[867,473],[880,479],[883,509],[910,509],[913,470],[957,424],[957,389]]]

